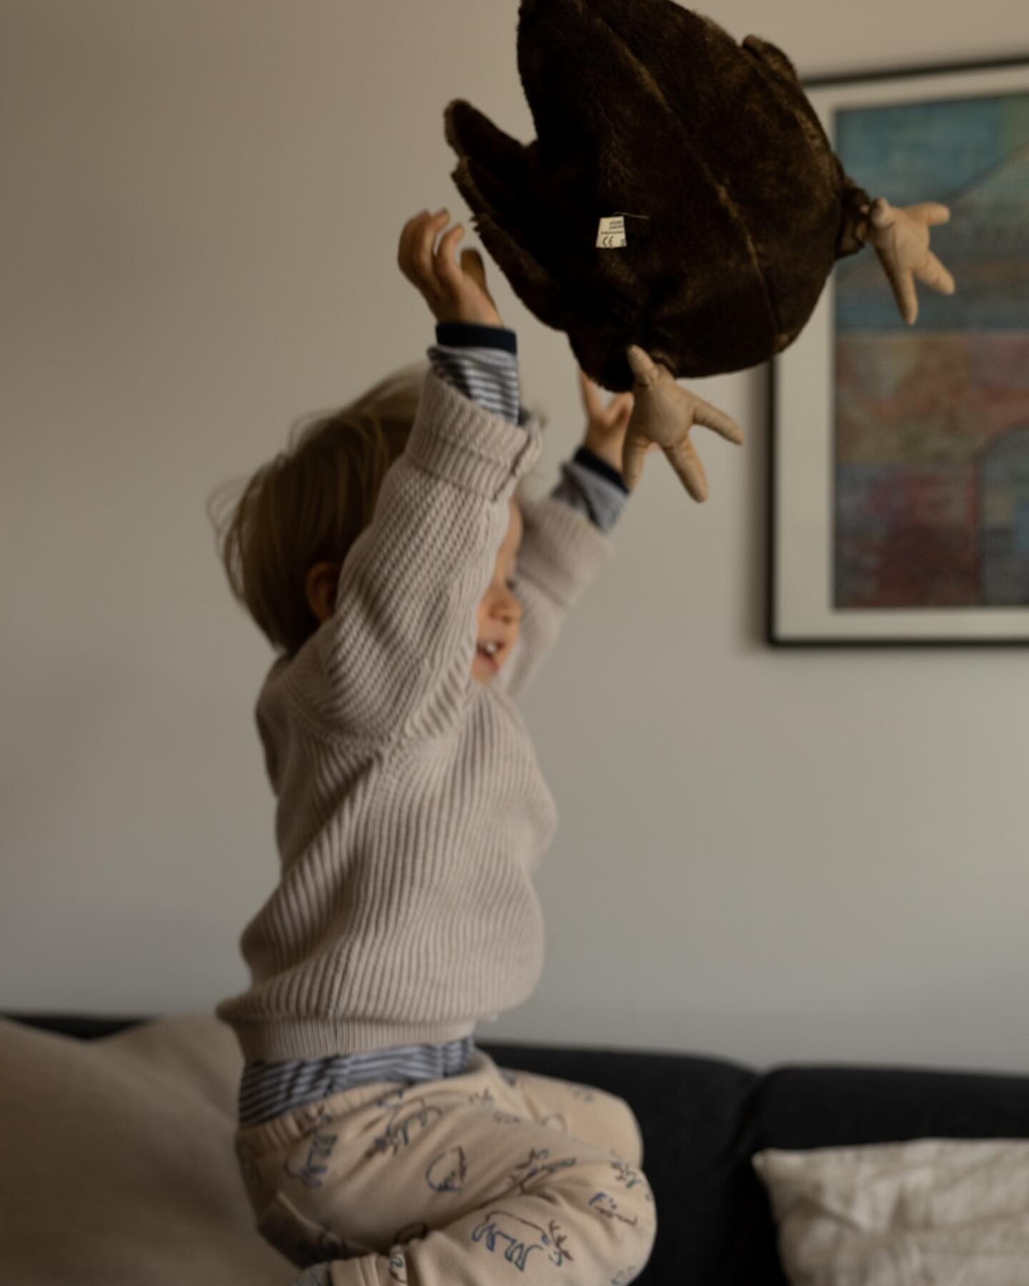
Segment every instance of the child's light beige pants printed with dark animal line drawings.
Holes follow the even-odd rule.
[[[626,1286],[653,1246],[628,1103],[481,1049],[241,1129],[237,1154],[297,1286]]]

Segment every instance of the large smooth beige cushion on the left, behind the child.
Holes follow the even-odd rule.
[[[102,1040],[0,1019],[0,1280],[284,1286],[233,1151],[242,1067],[215,1017]]]

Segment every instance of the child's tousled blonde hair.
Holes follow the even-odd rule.
[[[341,410],[300,421],[286,451],[210,496],[229,586],[274,648],[292,656],[318,629],[306,574],[319,562],[342,565],[372,521],[428,369],[428,361],[401,367]]]

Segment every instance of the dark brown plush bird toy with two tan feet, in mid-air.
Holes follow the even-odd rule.
[[[673,0],[522,0],[518,72],[536,140],[455,99],[453,179],[518,298],[596,383],[635,394],[630,489],[659,442],[706,499],[692,424],[742,433],[675,381],[781,352],[841,256],[871,239],[908,323],[916,276],[953,292],[929,249],[947,207],[893,208],[851,183],[774,45]]]

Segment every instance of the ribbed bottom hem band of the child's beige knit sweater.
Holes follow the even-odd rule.
[[[219,1017],[223,1017],[219,1015]],[[370,1053],[396,1046],[448,1044],[475,1031],[475,1021],[368,1022],[358,1019],[230,1020],[247,1062],[288,1062],[333,1055]]]

